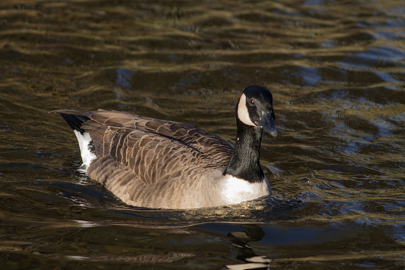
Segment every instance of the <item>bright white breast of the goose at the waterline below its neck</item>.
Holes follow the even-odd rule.
[[[264,176],[262,182],[251,183],[227,174],[222,179],[220,188],[223,199],[227,204],[238,204],[271,195],[270,184],[266,176]]]

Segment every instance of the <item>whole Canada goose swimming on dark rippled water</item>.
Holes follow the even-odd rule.
[[[273,98],[250,86],[236,104],[233,149],[193,125],[128,112],[54,110],[76,134],[83,165],[128,205],[190,209],[237,204],[271,195],[259,164],[263,129],[277,136]]]

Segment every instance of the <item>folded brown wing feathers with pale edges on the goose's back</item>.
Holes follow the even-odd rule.
[[[224,167],[232,147],[220,137],[185,123],[99,110],[82,128],[90,133],[96,155],[111,155],[145,183],[174,177],[182,164]]]

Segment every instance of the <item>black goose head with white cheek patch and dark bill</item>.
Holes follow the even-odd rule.
[[[236,104],[236,118],[247,126],[262,128],[271,136],[278,135],[275,127],[273,97],[263,86],[249,86]]]

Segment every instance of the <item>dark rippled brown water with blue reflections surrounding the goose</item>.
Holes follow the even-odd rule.
[[[234,142],[252,84],[274,97],[274,196],[237,207],[128,207],[76,173],[74,134],[47,113]],[[403,1],[2,0],[0,105],[0,269],[405,268]]]

